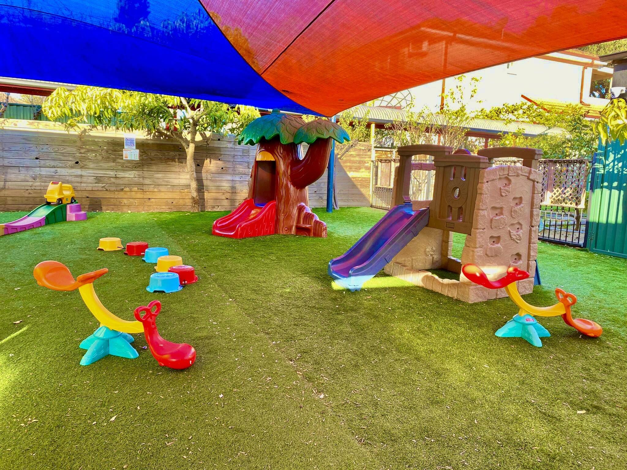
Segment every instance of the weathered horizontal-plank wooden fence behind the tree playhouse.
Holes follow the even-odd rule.
[[[123,160],[120,132],[68,133],[53,122],[0,120],[0,211],[41,204],[50,181],[73,185],[87,211],[187,211],[185,152],[175,140],[137,135],[139,160]],[[248,192],[255,147],[234,136],[196,150],[201,210],[234,209]],[[336,166],[340,206],[369,206],[370,149],[350,150]],[[327,176],[309,187],[310,206],[324,207]]]

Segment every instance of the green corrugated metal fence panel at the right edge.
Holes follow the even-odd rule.
[[[627,144],[599,144],[591,187],[588,248],[627,258]]]

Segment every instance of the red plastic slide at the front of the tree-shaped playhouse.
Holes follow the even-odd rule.
[[[245,199],[228,216],[213,222],[211,233],[221,237],[247,238],[272,235],[275,232],[277,201],[257,206],[253,199]]]

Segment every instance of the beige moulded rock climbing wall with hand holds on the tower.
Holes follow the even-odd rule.
[[[533,274],[538,253],[542,174],[529,167],[498,166],[482,170],[477,187],[475,217],[461,254],[461,264],[480,266],[500,278],[515,266]],[[468,302],[507,296],[470,283],[461,274],[458,296]],[[519,281],[521,294],[534,289],[534,279]]]

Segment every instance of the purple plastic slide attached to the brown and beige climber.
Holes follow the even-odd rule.
[[[428,208],[414,211],[411,202],[393,207],[349,251],[329,261],[329,276],[350,291],[360,290],[428,222]]]

